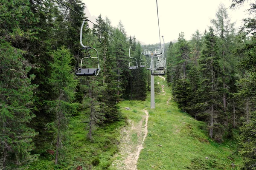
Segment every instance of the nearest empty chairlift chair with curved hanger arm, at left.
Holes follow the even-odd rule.
[[[98,76],[99,71],[100,71],[100,66],[99,66],[99,54],[98,51],[95,48],[89,47],[89,46],[84,46],[82,43],[82,32],[83,32],[83,26],[84,26],[84,21],[82,23],[81,29],[80,29],[80,44],[82,48],[79,49],[78,55],[77,55],[77,71],[76,75],[77,76]],[[92,57],[91,54],[96,54],[96,56]],[[79,67],[79,59],[81,58],[81,64]],[[88,62],[88,59],[97,59],[96,62],[98,62],[98,67],[97,68],[87,68],[84,63],[86,61]]]

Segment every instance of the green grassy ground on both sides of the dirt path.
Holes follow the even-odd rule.
[[[165,84],[160,77],[155,77],[155,81],[160,82],[160,85]],[[241,159],[236,155],[231,156],[235,151],[235,142],[218,144],[211,141],[204,122],[196,121],[180,112],[172,100],[169,105],[166,104],[171,92],[166,86],[164,90],[165,96],[162,92],[155,96],[155,109],[149,109],[150,94],[146,101],[119,103],[122,113],[135,123],[140,122],[141,116],[145,114],[141,110],[146,108],[149,112],[148,136],[140,153],[138,170],[215,170],[232,169],[232,163],[238,165]],[[125,110],[125,107],[131,110]],[[83,169],[109,169],[112,156],[118,152],[121,137],[119,129],[127,124],[120,121],[97,128],[93,134],[94,142],[90,142],[86,140],[87,120],[88,113],[81,113],[70,120],[63,149],[65,157],[60,158],[59,165],[54,165],[54,156],[43,153],[30,169],[73,170],[79,165]],[[132,141],[136,142],[136,138]]]

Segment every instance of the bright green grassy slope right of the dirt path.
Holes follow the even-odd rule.
[[[166,95],[162,95],[163,92],[156,94],[156,108],[149,109],[149,94],[145,102],[137,102],[131,107],[139,111],[147,106],[149,111],[148,136],[140,153],[138,170],[229,170],[233,168],[232,163],[236,166],[241,163],[239,156],[232,155],[236,151],[234,140],[222,144],[212,141],[206,123],[180,111],[172,100],[167,105],[170,88],[160,77],[155,77],[155,81],[164,84],[166,92]],[[128,103],[119,105],[130,107]],[[140,114],[136,116],[131,111],[124,114],[128,119],[139,121]]]

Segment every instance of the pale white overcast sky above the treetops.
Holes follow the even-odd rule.
[[[135,36],[137,40],[145,44],[159,42],[157,23],[156,0],[82,0],[86,6],[86,16],[89,20],[102,14],[108,17],[111,25],[116,27],[121,20],[127,36]],[[236,10],[229,9],[231,0],[157,0],[160,34],[165,42],[177,40],[181,31],[186,40],[190,40],[198,29],[201,33],[212,26],[211,19],[215,19],[215,13],[220,3],[223,3],[232,22],[236,27],[241,26],[241,20],[245,17],[246,7]],[[162,40],[161,40],[162,41]]]

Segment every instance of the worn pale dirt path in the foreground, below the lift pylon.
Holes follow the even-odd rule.
[[[115,157],[112,166],[117,170],[137,170],[137,161],[143,143],[148,134],[148,111],[143,110],[145,116],[137,124],[128,120],[129,126],[121,130],[122,139],[119,145],[119,153]],[[143,122],[145,125],[143,126]]]

